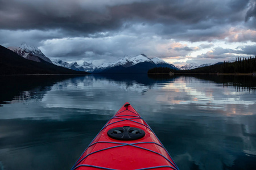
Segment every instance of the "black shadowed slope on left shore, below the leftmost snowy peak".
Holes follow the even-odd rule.
[[[42,59],[43,60],[43,59]],[[35,62],[23,58],[0,45],[0,75],[13,74],[88,74],[53,65],[49,62]]]

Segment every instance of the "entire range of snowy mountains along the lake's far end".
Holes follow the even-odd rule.
[[[93,63],[89,63],[86,61],[84,61],[82,65],[79,65],[76,61],[68,63],[62,61],[61,59],[51,61],[51,59],[46,57],[40,49],[31,45],[27,45],[26,43],[23,43],[19,47],[13,46],[9,47],[8,49],[12,50],[19,56],[22,56],[23,58],[32,61],[51,64],[53,63],[56,66],[61,66],[76,71],[86,71],[89,73],[147,73],[149,69],[152,69],[154,67],[169,67],[175,70],[191,70],[199,67],[212,65],[212,63],[206,63],[203,65],[191,63],[189,65],[176,67],[170,63],[163,61],[163,59],[161,58],[148,58],[144,54],[139,54],[138,56],[133,57],[126,56],[110,63],[102,63],[102,65],[96,67],[95,65],[93,65]]]

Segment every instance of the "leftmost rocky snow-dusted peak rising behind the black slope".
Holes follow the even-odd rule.
[[[35,46],[27,45],[26,43],[22,43],[19,47],[9,47],[8,49],[12,50],[19,56],[22,56],[26,59],[30,59],[36,62],[49,62],[52,63],[51,59],[46,57],[40,49],[36,48]]]

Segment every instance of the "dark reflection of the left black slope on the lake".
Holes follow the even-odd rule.
[[[75,75],[0,76],[0,106],[11,101],[41,100],[53,84]]]

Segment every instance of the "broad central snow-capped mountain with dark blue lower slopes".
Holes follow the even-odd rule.
[[[153,67],[170,67],[177,69],[174,65],[160,58],[148,58],[144,54],[135,57],[124,57],[112,63],[103,63],[93,73],[147,73]]]

